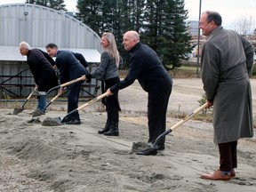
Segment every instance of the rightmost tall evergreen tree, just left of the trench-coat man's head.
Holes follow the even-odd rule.
[[[188,11],[184,9],[184,0],[169,0],[165,8],[168,13],[164,23],[164,44],[160,46],[159,52],[163,54],[165,68],[171,68],[172,65],[173,69],[180,67],[180,60],[188,60],[187,54],[192,52],[193,47],[185,21]]]

